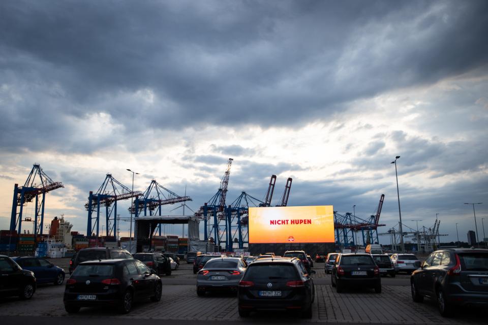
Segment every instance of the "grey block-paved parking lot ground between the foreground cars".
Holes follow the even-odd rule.
[[[69,260],[51,260],[67,270]],[[2,323],[17,323],[20,316],[69,317],[73,323],[92,318],[90,323],[100,319],[118,319],[123,324],[132,319],[160,319],[168,323],[178,321],[182,325],[199,320],[200,324],[227,321],[238,323],[272,322],[328,322],[328,323],[378,323],[378,324],[486,324],[484,311],[463,309],[453,318],[439,315],[434,301],[425,299],[424,303],[414,303],[410,296],[408,275],[395,278],[383,277],[381,294],[373,290],[346,290],[338,294],[330,285],[330,276],[323,271],[323,263],[316,263],[314,270],[316,299],[312,319],[301,319],[299,315],[288,313],[258,313],[249,318],[240,318],[237,313],[237,299],[232,295],[196,295],[196,276],[190,264],[182,263],[180,269],[171,276],[163,276],[163,298],[160,302],[136,304],[131,313],[119,315],[116,311],[104,308],[82,308],[76,315],[68,315],[63,306],[63,286],[40,285],[31,300],[18,298],[0,299]],[[68,276],[67,276],[68,278]],[[38,318],[40,321],[44,318]],[[52,320],[52,318],[49,318]],[[46,320],[46,319],[44,319]],[[41,322],[43,322],[42,320]],[[61,319],[59,319],[61,320]]]

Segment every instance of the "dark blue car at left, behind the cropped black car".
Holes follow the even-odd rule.
[[[65,280],[65,270],[52,264],[41,257],[15,257],[13,260],[23,269],[34,272],[37,283],[63,284]]]

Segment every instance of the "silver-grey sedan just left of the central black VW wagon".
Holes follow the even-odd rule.
[[[210,259],[197,275],[197,295],[205,296],[207,291],[237,291],[246,263],[238,257],[221,257]]]

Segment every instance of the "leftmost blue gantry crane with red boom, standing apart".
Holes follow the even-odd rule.
[[[13,231],[18,227],[18,233],[22,230],[23,207],[28,203],[36,200],[34,209],[34,234],[38,232],[42,235],[44,224],[44,207],[46,203],[46,193],[54,189],[65,187],[62,182],[54,182],[44,173],[39,164],[34,164],[27,180],[23,186],[14,185],[14,198],[12,201],[12,214],[10,217],[10,230]],[[39,198],[39,196],[42,197]],[[20,207],[17,215],[17,207]]]

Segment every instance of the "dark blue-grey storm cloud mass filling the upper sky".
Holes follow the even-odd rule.
[[[2,2],[0,145],[92,151],[107,141],[73,128],[100,112],[125,135],[326,118],[482,66],[487,13],[484,1]]]

